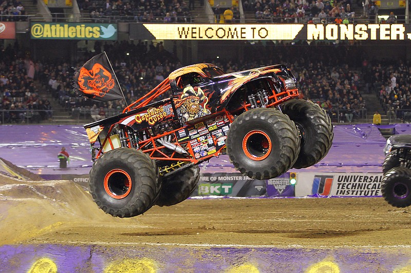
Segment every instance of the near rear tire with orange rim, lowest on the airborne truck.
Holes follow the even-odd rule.
[[[142,151],[118,148],[102,155],[90,171],[90,193],[114,217],[134,217],[151,208],[160,192],[156,165]]]

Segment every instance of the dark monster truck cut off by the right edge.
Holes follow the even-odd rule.
[[[395,207],[411,205],[411,134],[390,136],[384,147],[381,192]]]

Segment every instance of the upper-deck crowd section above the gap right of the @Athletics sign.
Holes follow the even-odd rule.
[[[95,22],[106,22],[111,19],[141,23],[191,22],[190,10],[192,8],[184,0],[81,0],[78,3],[80,9],[88,11]]]

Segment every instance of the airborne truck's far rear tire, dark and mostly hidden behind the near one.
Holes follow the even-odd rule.
[[[193,165],[163,178],[157,206],[172,206],[191,196],[200,180],[200,168]]]

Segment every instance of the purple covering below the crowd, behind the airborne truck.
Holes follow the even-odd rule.
[[[396,125],[398,132],[408,124]],[[399,128],[402,129],[399,129]],[[0,157],[41,174],[87,174],[92,165],[89,142],[78,125],[3,125],[0,127]],[[318,164],[298,171],[381,171],[385,139],[372,124],[334,126],[334,141]],[[61,170],[57,153],[66,147],[70,164]],[[204,172],[236,172],[227,155],[200,165]],[[357,169],[356,168],[362,168]]]

